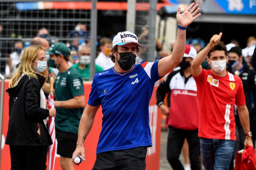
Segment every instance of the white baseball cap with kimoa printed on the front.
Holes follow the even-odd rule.
[[[115,45],[122,46],[128,43],[136,43],[139,47],[141,47],[140,43],[138,43],[138,37],[134,33],[131,33],[130,31],[124,31],[117,33],[117,35],[114,37],[112,48]]]

